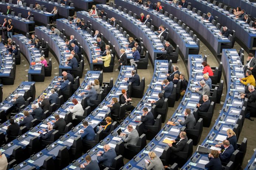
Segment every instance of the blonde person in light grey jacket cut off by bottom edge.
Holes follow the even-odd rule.
[[[150,160],[145,160],[146,170],[165,170],[165,167],[163,166],[161,159],[158,156],[156,156],[155,152],[149,152],[148,156]]]

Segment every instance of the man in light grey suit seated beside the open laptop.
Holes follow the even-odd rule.
[[[137,142],[139,140],[139,133],[136,129],[133,129],[132,125],[129,124],[127,126],[127,130],[130,132],[130,134],[128,134],[127,138],[125,138],[126,134],[125,133],[121,133],[121,137],[124,140],[124,142],[126,142],[124,144],[124,147],[126,147],[128,144],[129,145],[137,145]]]

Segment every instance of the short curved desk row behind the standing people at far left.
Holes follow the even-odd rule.
[[[17,16],[4,15],[3,12],[0,12],[0,20],[4,21],[4,18],[7,20],[11,19],[11,23],[13,23],[14,29],[20,30],[24,33],[35,30],[34,21],[27,20],[26,18],[18,18]],[[3,32],[2,35],[4,35]]]

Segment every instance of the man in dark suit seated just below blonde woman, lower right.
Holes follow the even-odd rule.
[[[222,142],[222,144],[225,149],[222,153],[221,153],[221,151],[218,151],[219,158],[221,159],[221,162],[228,163],[232,153],[234,152],[234,147],[232,145],[230,145],[228,140],[224,140]]]

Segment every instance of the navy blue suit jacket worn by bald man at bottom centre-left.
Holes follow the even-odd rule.
[[[103,162],[102,164],[107,167],[111,167],[113,160],[117,157],[115,149],[111,148],[107,152],[104,152],[101,156],[97,156],[98,163]]]

